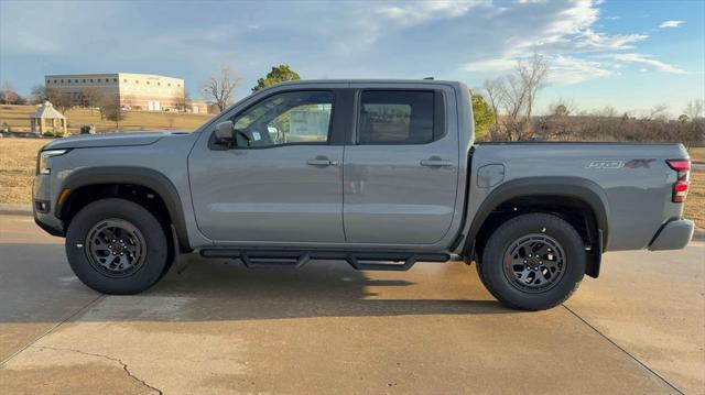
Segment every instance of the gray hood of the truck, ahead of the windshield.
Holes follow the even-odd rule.
[[[155,132],[117,132],[106,134],[82,134],[72,138],[56,139],[44,145],[45,150],[62,149],[89,149],[101,146],[128,146],[153,144],[164,136],[172,134],[185,134],[177,131],[155,131]]]

